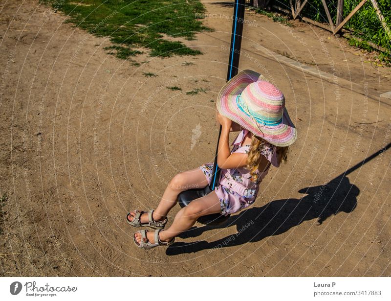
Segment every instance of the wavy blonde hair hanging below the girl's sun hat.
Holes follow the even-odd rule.
[[[250,149],[246,160],[246,168],[250,171],[251,181],[253,182],[258,180],[257,169],[261,162],[261,149],[264,144],[265,141],[255,135],[251,139]],[[288,150],[289,146],[277,146],[277,161],[279,164],[288,159]]]

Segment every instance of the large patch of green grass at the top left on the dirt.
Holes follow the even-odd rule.
[[[198,31],[211,30],[197,20],[205,8],[199,0],[40,0],[68,16],[68,23],[98,37],[109,37],[110,54],[121,59],[150,49],[151,56],[197,55],[199,50],[164,35],[194,40]]]

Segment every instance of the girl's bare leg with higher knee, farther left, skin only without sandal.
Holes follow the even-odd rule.
[[[153,211],[152,218],[155,221],[162,221],[167,217],[168,212],[176,204],[178,194],[182,191],[192,188],[203,188],[208,185],[208,181],[201,169],[195,168],[185,172],[178,173],[170,181],[166,190],[163,193],[162,199],[159,205]],[[131,216],[134,217],[135,213],[130,212]],[[128,217],[129,221],[132,217]],[[141,223],[148,222],[148,214],[142,214],[140,217]]]

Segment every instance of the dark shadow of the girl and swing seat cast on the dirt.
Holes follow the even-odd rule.
[[[166,254],[177,255],[257,242],[265,237],[284,233],[303,221],[316,218],[318,219],[317,225],[321,225],[329,216],[338,212],[352,212],[356,208],[360,190],[356,185],[350,184],[345,173],[326,185],[303,188],[299,192],[307,195],[301,199],[272,201],[261,208],[249,208],[238,215],[230,216],[223,225],[194,227],[183,232],[180,237],[189,238],[211,229],[233,225],[237,227],[236,234],[217,241],[175,243],[167,248]]]

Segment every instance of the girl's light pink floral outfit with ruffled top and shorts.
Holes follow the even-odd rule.
[[[231,150],[232,153],[248,153],[250,144],[242,145],[248,131],[242,130],[235,141]],[[262,145],[261,154],[274,166],[278,167],[276,146],[266,142]],[[269,164],[270,167],[270,164]],[[258,173],[257,182],[251,181],[250,171],[244,166],[236,169],[221,169],[219,185],[215,191],[220,200],[221,214],[228,215],[240,211],[254,203],[258,195],[259,184],[269,171],[269,167],[264,172]],[[207,163],[199,167],[209,185],[212,181],[213,164]]]

